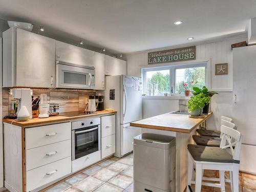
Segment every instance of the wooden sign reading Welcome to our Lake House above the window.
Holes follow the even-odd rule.
[[[196,46],[156,51],[147,54],[148,64],[196,59]]]

